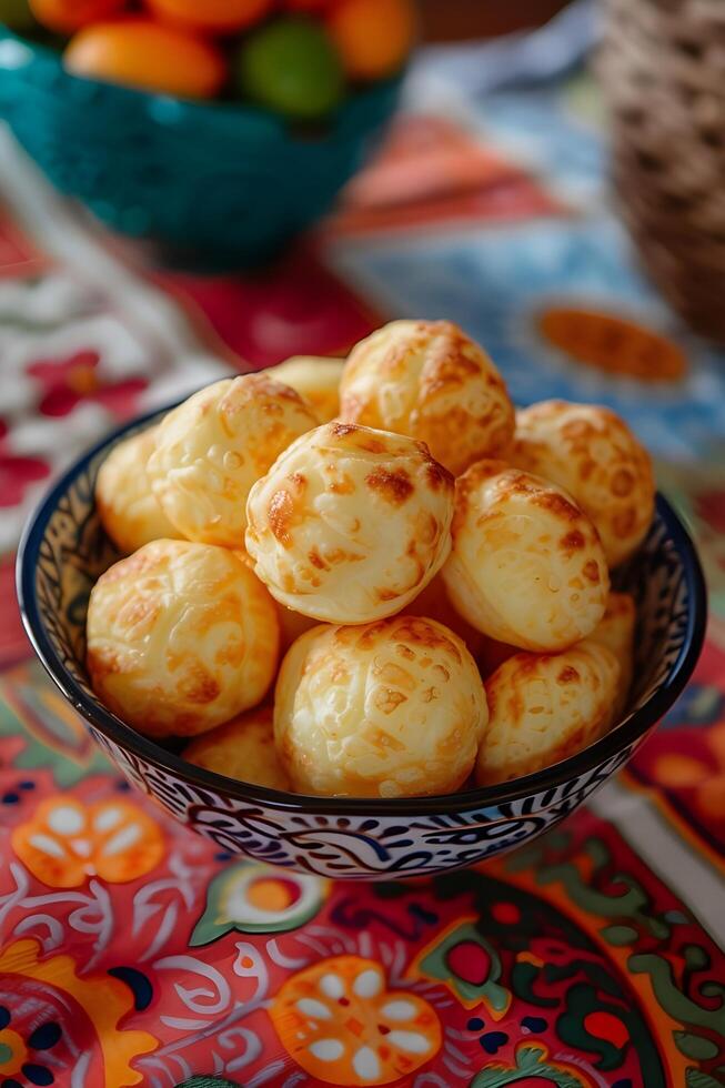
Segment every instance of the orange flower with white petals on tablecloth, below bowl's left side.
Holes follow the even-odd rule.
[[[89,876],[123,884],[149,873],[163,856],[163,835],[137,805],[124,800],[83,805],[58,795],[16,827],[12,847],[43,884],[77,888]]]

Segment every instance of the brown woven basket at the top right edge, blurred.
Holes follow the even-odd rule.
[[[725,0],[605,0],[613,171],[643,263],[725,342]]]

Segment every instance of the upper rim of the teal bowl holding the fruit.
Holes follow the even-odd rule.
[[[20,48],[27,49],[31,54],[27,63],[4,64],[2,62],[3,42],[16,42]],[[299,144],[306,149],[314,147],[315,143],[324,144],[330,137],[344,135],[350,129],[356,130],[358,115],[366,110],[369,103],[375,102],[377,99],[384,100],[391,91],[400,88],[406,70],[403,68],[389,79],[377,80],[369,87],[353,89],[338,110],[319,122],[295,122],[251,102],[225,99],[188,99],[160,91],[145,91],[141,88],[124,87],[121,83],[75,75],[63,67],[62,53],[59,50],[44,42],[26,38],[0,22],[0,77],[18,73],[20,78],[23,78],[23,72],[27,72],[32,66],[39,64],[54,69],[64,81],[78,89],[80,92],[77,98],[79,105],[83,99],[89,101],[97,95],[113,95],[119,102],[125,100],[133,103],[135,108],[145,108],[149,121],[163,128],[175,127],[180,121],[183,123],[197,121],[204,124],[209,124],[211,121],[224,129],[226,135],[230,135],[233,128],[243,121],[246,125],[250,123],[256,125],[260,133],[266,129],[270,137],[278,137],[284,143]],[[248,133],[249,129],[246,130]]]

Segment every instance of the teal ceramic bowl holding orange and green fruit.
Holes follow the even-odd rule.
[[[392,115],[400,79],[350,98],[320,132],[230,102],[79,79],[0,27],[0,119],[52,183],[180,259],[250,265],[329,210]]]

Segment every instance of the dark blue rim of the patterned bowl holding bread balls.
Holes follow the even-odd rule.
[[[43,667],[66,698],[103,736],[113,741],[121,748],[154,764],[159,769],[170,772],[182,782],[190,782],[202,789],[221,793],[246,804],[263,804],[270,808],[313,815],[400,817],[493,808],[497,805],[523,800],[533,794],[555,789],[567,780],[580,777],[616,756],[644,736],[651,726],[664,716],[692,676],[703,648],[707,624],[705,578],[689,534],[667,500],[657,493],[657,514],[664,522],[668,537],[681,558],[687,583],[689,608],[683,644],[663,686],[618,726],[615,726],[595,744],[576,755],[543,770],[496,786],[430,797],[390,799],[312,797],[304,794],[282,793],[239,782],[234,778],[226,778],[224,775],[187,763],[181,756],[168,752],[149,737],[137,733],[135,729],[125,725],[121,718],[89,698],[56,653],[46,632],[36,594],[36,566],[40,544],[46,534],[48,522],[61,496],[69,490],[75,477],[85,470],[88,463],[104,447],[110,446],[127,431],[142,426],[173,406],[173,404],[169,404],[165,407],[154,409],[142,416],[128,421],[95,443],[63,473],[47,492],[26,525],[18,548],[16,573],[18,603],[26,632]]]

